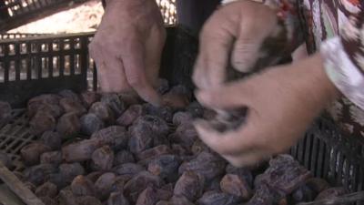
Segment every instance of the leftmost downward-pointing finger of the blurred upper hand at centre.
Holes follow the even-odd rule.
[[[195,67],[194,83],[199,88],[215,87],[226,78],[226,67],[238,21],[227,15],[213,15],[200,35],[200,50]]]

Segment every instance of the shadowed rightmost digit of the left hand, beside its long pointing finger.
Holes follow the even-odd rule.
[[[152,26],[150,36],[146,42],[146,73],[147,79],[153,87],[157,87],[157,80],[160,70],[160,60],[162,58],[163,47],[166,42],[166,30],[156,24]]]

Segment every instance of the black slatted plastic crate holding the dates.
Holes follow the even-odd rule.
[[[66,88],[96,90],[96,68],[87,50],[93,35],[0,40],[0,100],[11,102],[15,108],[25,108],[30,97],[42,93]],[[183,83],[192,88],[190,76],[196,56],[197,39],[189,36],[184,29],[167,28],[161,77],[172,84]],[[22,169],[18,151],[37,138],[29,134],[22,109],[15,112],[15,117],[14,121],[0,129],[0,150],[9,153],[16,161],[16,169]],[[362,138],[341,135],[335,123],[323,115],[308,128],[304,138],[289,153],[314,176],[355,192],[364,190],[363,145]],[[13,187],[15,192],[24,188],[18,182],[20,184],[14,183],[17,186]],[[27,200],[29,196],[20,197]]]

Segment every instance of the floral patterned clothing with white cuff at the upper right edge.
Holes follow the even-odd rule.
[[[330,80],[343,94],[329,113],[345,134],[364,137],[364,0],[298,0],[290,5],[297,9],[308,53],[321,53]]]

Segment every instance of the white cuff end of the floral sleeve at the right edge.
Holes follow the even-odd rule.
[[[364,109],[364,11],[349,16],[340,36],[323,42],[320,52],[330,80]]]

